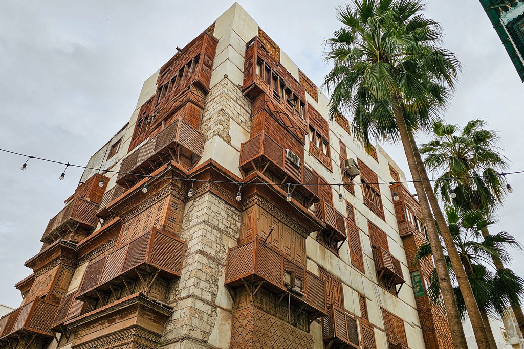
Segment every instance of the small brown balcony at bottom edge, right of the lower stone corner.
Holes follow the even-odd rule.
[[[356,320],[333,305],[328,307],[328,313],[322,318],[322,336],[328,347],[337,344],[337,348],[359,348]]]

